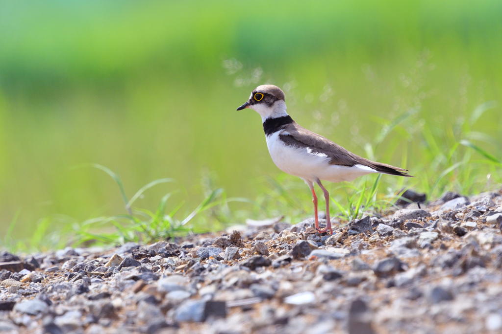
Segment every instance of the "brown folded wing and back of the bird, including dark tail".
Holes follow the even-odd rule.
[[[329,163],[331,165],[339,165],[339,166],[363,165],[370,167],[381,173],[400,175],[400,176],[411,176],[408,175],[407,173],[404,173],[407,172],[406,169],[370,161],[352,152],[349,152],[340,145],[332,142],[331,140],[324,138],[323,136],[318,135],[317,133],[309,131],[305,128],[302,128],[296,122],[286,125],[284,127],[284,131],[287,131],[287,133],[280,134],[279,138],[286,145],[290,145],[297,148],[309,148],[314,153],[325,154],[330,159]]]

